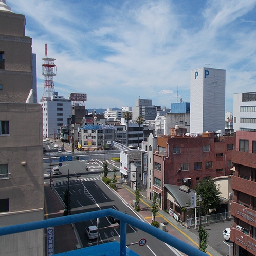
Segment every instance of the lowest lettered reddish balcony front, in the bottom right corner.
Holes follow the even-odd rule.
[[[253,255],[256,253],[256,240],[242,231],[231,227],[230,240],[234,241],[235,244],[241,246],[245,250],[249,251]]]

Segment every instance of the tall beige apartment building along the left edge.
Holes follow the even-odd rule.
[[[33,102],[32,39],[0,0],[0,226],[44,219],[42,107]],[[44,255],[44,230],[0,237],[0,255]]]

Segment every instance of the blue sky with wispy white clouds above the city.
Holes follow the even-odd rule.
[[[190,102],[190,71],[226,70],[226,111],[233,94],[255,91],[256,0],[6,0],[26,16],[37,56],[38,98],[48,57],[55,90],[86,93],[86,108]]]

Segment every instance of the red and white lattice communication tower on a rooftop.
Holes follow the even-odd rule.
[[[47,44],[45,44],[45,58],[43,58],[44,64],[42,64],[42,75],[44,76],[44,94],[41,101],[45,101],[46,98],[53,98],[54,95],[54,82],[53,77],[56,76],[56,59],[47,57]]]

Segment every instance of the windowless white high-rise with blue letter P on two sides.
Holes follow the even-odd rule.
[[[199,68],[190,76],[190,133],[225,129],[226,70]]]

